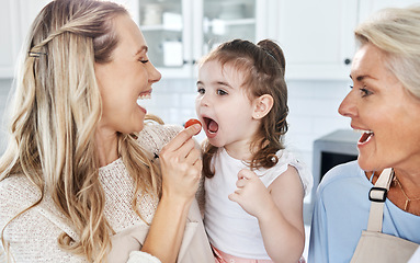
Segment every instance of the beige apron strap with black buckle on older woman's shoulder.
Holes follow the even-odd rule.
[[[371,201],[371,211],[367,221],[368,231],[382,232],[384,203],[393,175],[394,171],[391,168],[385,169],[377,179],[375,186],[368,192],[368,199]]]

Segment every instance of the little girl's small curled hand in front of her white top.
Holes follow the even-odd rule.
[[[229,195],[229,199],[238,203],[251,216],[258,218],[274,205],[269,190],[258,175],[248,169],[239,171],[236,186],[238,188]]]

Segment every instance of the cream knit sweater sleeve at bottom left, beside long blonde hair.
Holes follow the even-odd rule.
[[[57,240],[63,228],[46,217],[39,206],[14,218],[38,197],[37,191],[23,176],[11,176],[0,182],[0,231],[9,252],[2,256],[13,259],[11,262],[86,262],[82,256],[59,247]]]

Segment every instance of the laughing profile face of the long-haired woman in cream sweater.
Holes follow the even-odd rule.
[[[148,60],[146,41],[132,18],[115,18],[114,27],[118,44],[112,61],[95,64],[102,96],[101,128],[111,133],[140,132],[146,108],[137,105],[137,100],[149,98],[152,83],[161,76]]]

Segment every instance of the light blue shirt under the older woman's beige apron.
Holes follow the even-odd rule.
[[[334,167],[323,176],[314,207],[308,263],[351,261],[367,227],[372,186],[356,161]],[[420,217],[386,199],[383,232],[420,243]]]

